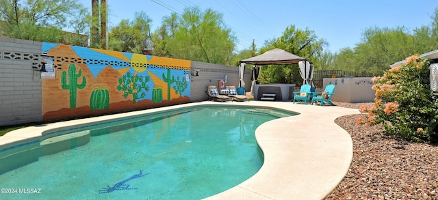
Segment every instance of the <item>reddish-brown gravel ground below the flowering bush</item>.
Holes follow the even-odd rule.
[[[334,102],[360,109],[365,103]],[[410,143],[381,126],[357,125],[365,114],[335,120],[353,141],[353,159],[344,180],[326,199],[438,199],[437,144]]]

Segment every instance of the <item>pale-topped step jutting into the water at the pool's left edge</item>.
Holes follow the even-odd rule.
[[[90,130],[72,132],[41,141],[43,155],[56,154],[68,149],[74,149],[90,142]]]

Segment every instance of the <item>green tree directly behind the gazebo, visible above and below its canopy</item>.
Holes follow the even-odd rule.
[[[318,38],[314,31],[309,29],[296,29],[295,25],[286,27],[280,38],[266,40],[265,46],[261,48],[260,54],[273,48],[281,48],[284,51],[305,57],[309,61],[318,61],[323,47],[328,43]],[[298,65],[281,65],[263,67],[259,75],[261,83],[294,83],[302,84],[298,71]]]

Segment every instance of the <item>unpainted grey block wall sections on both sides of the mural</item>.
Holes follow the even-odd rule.
[[[0,126],[42,122],[42,79],[38,71],[42,42],[0,37]],[[190,101],[207,100],[209,85],[218,85],[228,76],[226,85],[239,87],[237,67],[192,61]],[[245,70],[245,90],[250,90],[250,69]]]

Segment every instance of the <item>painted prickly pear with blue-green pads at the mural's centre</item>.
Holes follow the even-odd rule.
[[[146,85],[151,78],[149,76],[133,75],[127,72],[118,78],[117,91],[124,91],[123,97],[127,98],[130,94],[133,97],[133,103],[144,100],[146,92],[149,91],[149,85]]]

